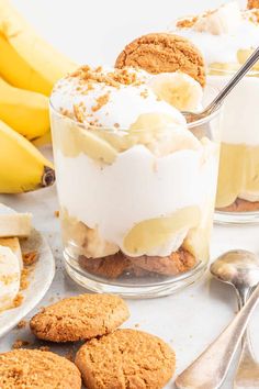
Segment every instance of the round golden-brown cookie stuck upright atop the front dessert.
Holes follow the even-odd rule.
[[[202,54],[189,40],[178,35],[154,33],[136,38],[116,59],[115,67],[124,66],[138,67],[151,74],[181,70],[205,86]]]

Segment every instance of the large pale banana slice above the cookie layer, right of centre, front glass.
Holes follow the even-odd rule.
[[[180,209],[167,218],[145,220],[124,237],[123,252],[131,256],[157,255],[159,248],[170,244],[170,254],[180,247],[188,230],[196,226],[200,219],[200,209],[193,205]]]

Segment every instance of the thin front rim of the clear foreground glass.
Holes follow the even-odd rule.
[[[212,85],[206,85],[205,88],[213,88],[214,90],[216,90],[217,88],[215,88],[214,86]],[[191,123],[187,123],[187,129],[193,129],[193,127],[196,127],[196,126],[200,126],[200,125],[203,125],[207,122],[210,122],[212,119],[214,119],[215,116],[217,116],[221,111],[222,111],[222,107],[223,107],[224,102],[222,102],[216,109],[214,112],[210,113],[210,114],[206,114],[204,118],[200,119],[200,120],[196,120],[196,121],[193,121]],[[49,108],[50,108],[50,111],[54,111],[55,114],[57,114],[58,116],[63,118],[63,119],[66,119],[66,120],[69,120],[70,122],[75,123],[77,126],[79,127],[82,127],[85,130],[94,130],[94,131],[109,131],[110,133],[128,133],[128,129],[124,129],[124,127],[114,127],[114,126],[95,126],[95,125],[92,125],[92,124],[87,124],[87,123],[80,123],[78,122],[76,119],[74,118],[69,118],[68,115],[59,112],[53,104],[52,102],[52,96],[49,97]],[[180,111],[181,112],[181,111]],[[170,126],[170,124],[168,125]],[[138,130],[135,130],[135,131],[138,131]],[[142,131],[139,129],[139,131]]]

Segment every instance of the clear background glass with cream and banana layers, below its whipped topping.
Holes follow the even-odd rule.
[[[210,84],[222,88],[239,66],[214,65],[210,68]],[[258,96],[259,70],[255,69],[225,102],[215,212],[218,223],[259,222]]]

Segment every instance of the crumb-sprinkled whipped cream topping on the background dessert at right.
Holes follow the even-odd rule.
[[[177,22],[170,32],[192,41],[205,63],[237,63],[239,49],[251,49],[259,42],[258,10],[241,11],[236,1],[217,10]]]

